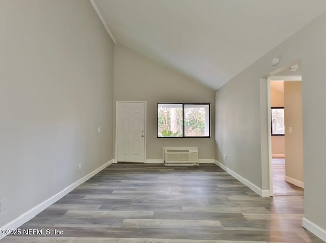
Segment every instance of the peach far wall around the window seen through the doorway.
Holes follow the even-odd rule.
[[[272,81],[280,82],[280,81]],[[283,83],[283,81],[281,81]],[[270,106],[271,107],[284,107],[284,93],[270,88]],[[285,154],[285,138],[284,136],[271,136],[271,153],[273,156],[281,156]]]

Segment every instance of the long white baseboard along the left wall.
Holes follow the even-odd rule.
[[[83,184],[85,181],[90,179],[92,176],[96,175],[98,172],[106,168],[107,166],[111,165],[113,163],[114,159],[111,159],[110,161],[106,162],[104,165],[100,166],[96,170],[92,171],[91,173],[87,174],[83,178],[80,178],[76,182],[72,183],[71,185],[64,188],[64,190],[60,191],[59,193],[53,195],[52,197],[46,199],[44,202],[41,202],[40,204],[36,205],[29,211],[21,214],[19,217],[14,219],[13,221],[9,222],[8,224],[1,226],[0,229],[17,229],[24,223],[28,222],[30,219],[35,217],[37,214],[42,212],[44,209],[52,205],[53,203],[57,202],[59,199],[70,193],[72,190],[74,190],[77,186]],[[6,235],[0,234],[0,240],[4,238]]]

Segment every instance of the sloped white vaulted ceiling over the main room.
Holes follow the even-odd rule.
[[[325,0],[91,0],[114,39],[218,89],[326,11]]]

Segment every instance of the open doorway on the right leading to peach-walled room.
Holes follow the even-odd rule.
[[[270,195],[304,195],[301,75],[267,82]]]

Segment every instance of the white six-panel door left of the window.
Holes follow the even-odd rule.
[[[117,102],[117,162],[145,160],[146,102]]]

